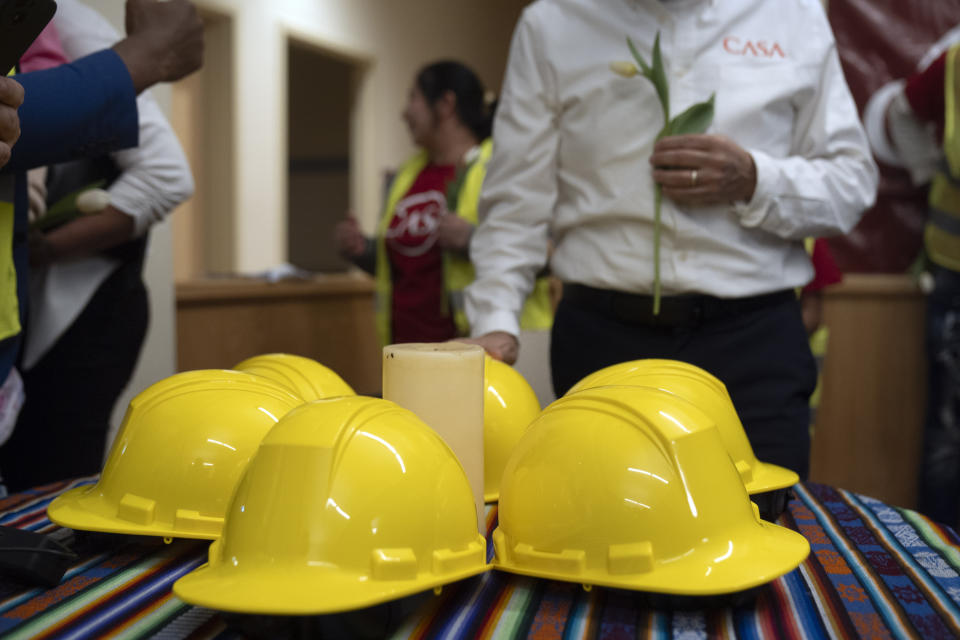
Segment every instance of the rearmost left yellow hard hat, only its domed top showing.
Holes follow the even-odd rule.
[[[357,395],[333,369],[303,356],[266,353],[247,358],[233,368],[279,382],[307,402],[321,398]]]

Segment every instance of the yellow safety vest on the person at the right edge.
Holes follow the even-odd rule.
[[[944,163],[930,184],[924,244],[930,260],[960,271],[960,45],[947,52],[944,73]]]

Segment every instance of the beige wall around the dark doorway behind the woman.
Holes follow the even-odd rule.
[[[498,89],[523,0],[198,0],[233,21],[233,268],[287,258],[287,39],[343,56],[361,73],[350,199],[372,231],[385,170],[412,148],[399,113],[417,68],[440,57],[473,66]]]

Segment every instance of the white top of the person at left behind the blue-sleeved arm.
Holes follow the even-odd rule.
[[[79,0],[57,0],[53,24],[64,53],[76,60],[112,47],[120,34]],[[163,220],[193,195],[193,176],[176,134],[149,91],[137,98],[139,146],[110,154],[120,170],[107,190],[110,204],[133,218],[134,237]],[[24,368],[29,369],[73,324],[120,262],[98,254],[31,268],[29,330]]]

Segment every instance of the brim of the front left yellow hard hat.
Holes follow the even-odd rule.
[[[363,609],[490,570],[474,567],[441,578],[371,580],[333,566],[244,569],[205,564],[177,580],[173,593],[193,605],[268,615],[320,615]]]

